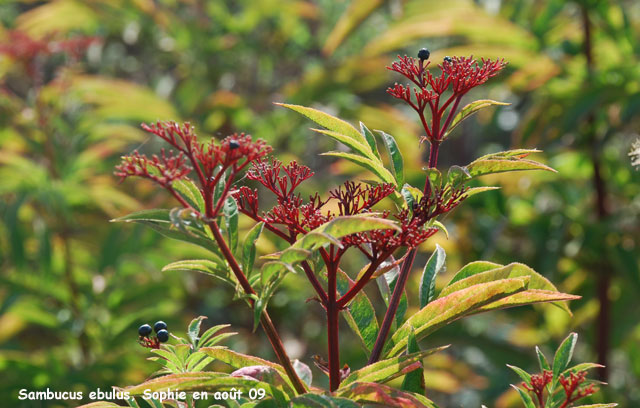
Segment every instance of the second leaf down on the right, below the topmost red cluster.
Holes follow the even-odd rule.
[[[556,173],[554,169],[542,163],[525,159],[529,154],[539,150],[512,150],[482,156],[467,166],[472,178],[486,174],[521,170],[546,170]]]

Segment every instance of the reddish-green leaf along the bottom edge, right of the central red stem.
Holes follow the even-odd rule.
[[[396,408],[437,408],[436,405],[425,396],[377,383],[356,382],[348,387],[341,387],[335,393],[339,397],[360,402],[365,406],[375,404],[384,407]]]

